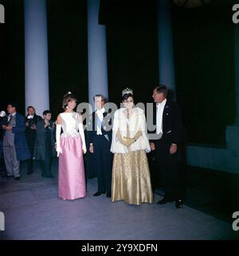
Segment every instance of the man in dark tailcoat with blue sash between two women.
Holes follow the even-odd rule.
[[[112,129],[107,120],[109,115],[105,112],[105,99],[103,95],[94,96],[96,111],[92,113],[88,122],[88,144],[89,152],[95,154],[96,171],[98,177],[98,191],[94,196],[99,196],[106,192],[107,197],[112,194]]]

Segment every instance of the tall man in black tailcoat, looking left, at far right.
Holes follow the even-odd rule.
[[[175,201],[175,206],[181,208],[178,148],[181,142],[182,120],[178,104],[168,100],[167,94],[168,90],[165,85],[159,85],[154,89],[153,98],[157,109],[153,120],[156,130],[149,131],[155,136],[150,142],[151,150],[156,153],[164,190],[164,197],[158,204]]]

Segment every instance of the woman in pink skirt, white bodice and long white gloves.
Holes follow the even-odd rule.
[[[63,98],[62,112],[57,116],[57,156],[59,156],[59,197],[78,199],[86,195],[83,153],[86,152],[82,116],[74,112],[76,97]],[[61,128],[63,133],[61,134]]]

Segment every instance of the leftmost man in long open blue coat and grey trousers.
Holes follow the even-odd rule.
[[[29,148],[25,140],[25,118],[17,112],[17,105],[7,105],[7,123],[2,124],[3,154],[8,177],[20,179],[20,161],[28,160]]]

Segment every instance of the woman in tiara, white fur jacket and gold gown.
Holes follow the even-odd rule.
[[[115,112],[112,128],[112,202],[153,203],[145,115],[143,109],[134,107],[131,89],[123,90],[122,101],[124,108]]]

